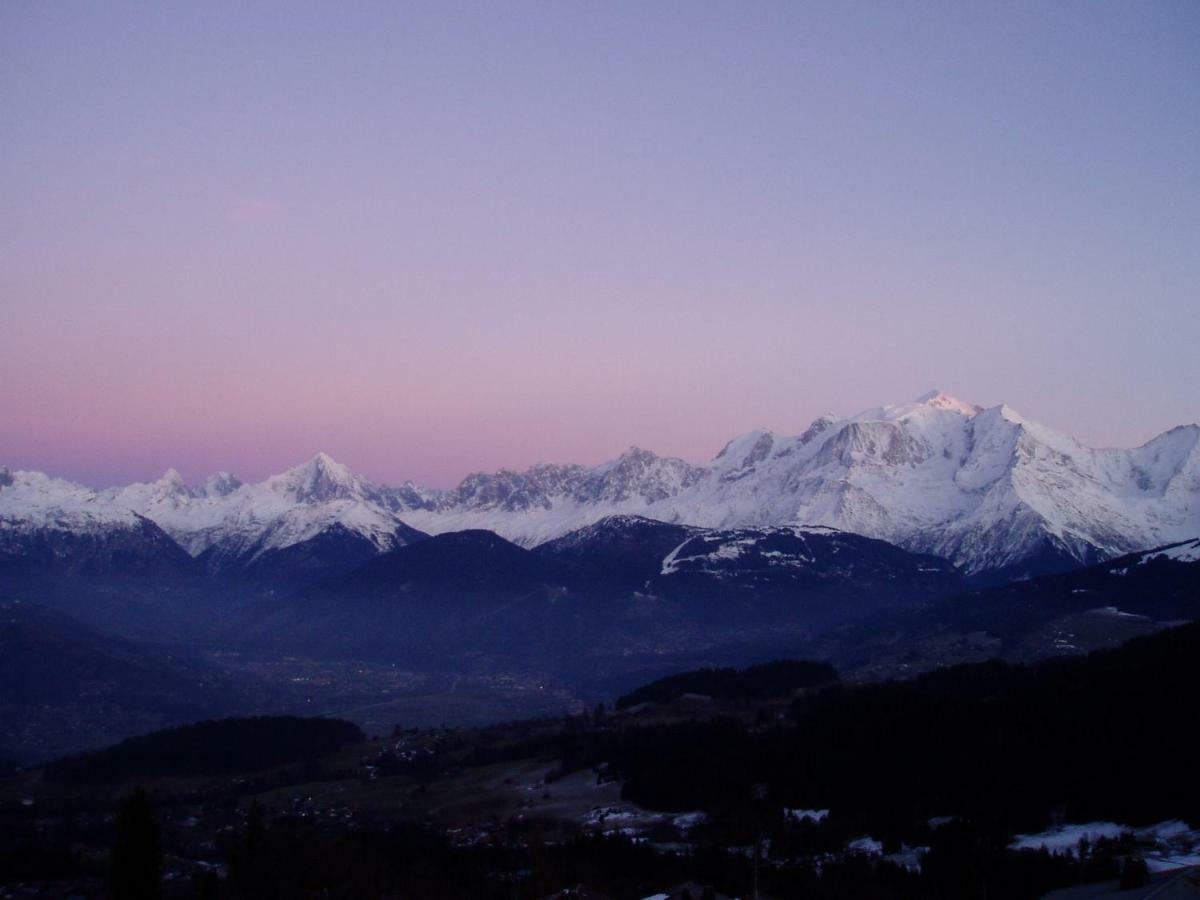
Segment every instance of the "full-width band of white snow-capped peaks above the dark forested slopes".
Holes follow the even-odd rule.
[[[252,485],[220,473],[188,487],[170,470],[97,491],[0,468],[0,544],[149,521],[192,557],[251,560],[331,529],[374,552],[421,536],[413,529],[482,528],[528,547],[612,515],[721,529],[824,526],[968,574],[1032,571],[1200,534],[1200,426],[1098,450],[1006,406],[932,391],[823,416],[794,437],[754,431],[703,464],[634,448],[595,467],[474,474],[448,491],[377,485],[324,454]]]

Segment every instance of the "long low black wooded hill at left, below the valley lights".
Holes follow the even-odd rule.
[[[353,722],[263,715],[220,719],[130,738],[58,760],[46,778],[98,784],[143,775],[228,775],[317,760],[365,740]]]

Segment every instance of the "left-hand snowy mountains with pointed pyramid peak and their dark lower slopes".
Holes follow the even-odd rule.
[[[0,565],[82,574],[174,568],[286,588],[425,538],[395,505],[389,491],[324,454],[258,485],[217,473],[194,488],[174,469],[106,491],[0,469]]]

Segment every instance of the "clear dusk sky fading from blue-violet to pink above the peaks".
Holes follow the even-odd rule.
[[[252,7],[252,8],[247,8]],[[1200,420],[1200,4],[0,4],[0,462]]]

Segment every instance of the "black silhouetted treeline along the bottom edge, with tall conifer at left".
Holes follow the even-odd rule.
[[[58,881],[55,887],[72,884],[76,889],[64,893],[98,896],[107,868],[114,896],[155,896],[161,884],[166,896],[180,900],[534,900],[576,886],[605,896],[636,898],[683,881],[749,896],[755,884],[752,860],[744,852],[730,852],[730,845],[713,840],[712,832],[697,835],[695,850],[683,856],[662,854],[620,835],[574,835],[547,845],[533,821],[517,830],[510,823],[498,844],[455,846],[445,834],[416,823],[331,828],[311,818],[271,817],[258,804],[251,805],[241,827],[216,835],[214,853],[228,866],[227,878],[209,871],[162,882],[152,816],[144,809],[131,811],[131,804],[144,806],[133,798],[121,802],[121,814],[112,824],[113,852],[107,866],[104,860],[86,864],[61,856],[65,850],[61,858],[44,850],[30,854],[38,848],[36,834],[20,839],[11,830],[0,830],[0,850],[19,847],[25,854],[18,868],[6,868],[6,857],[0,853],[0,882],[5,876],[32,882],[74,878]],[[1014,852],[1007,848],[1004,835],[964,821],[929,835],[930,852],[918,874],[864,856],[822,856],[824,846],[844,846],[844,835],[833,830],[829,834],[828,822],[820,827],[781,818],[763,823],[758,836],[769,838],[776,862],[758,866],[760,890],[810,900],[1033,900],[1080,880],[1116,878],[1118,853],[1124,850],[1098,841],[1082,863],[1045,851]],[[826,844],[830,836],[835,840]],[[785,858],[791,862],[778,862]],[[16,856],[8,862],[17,862]]]

